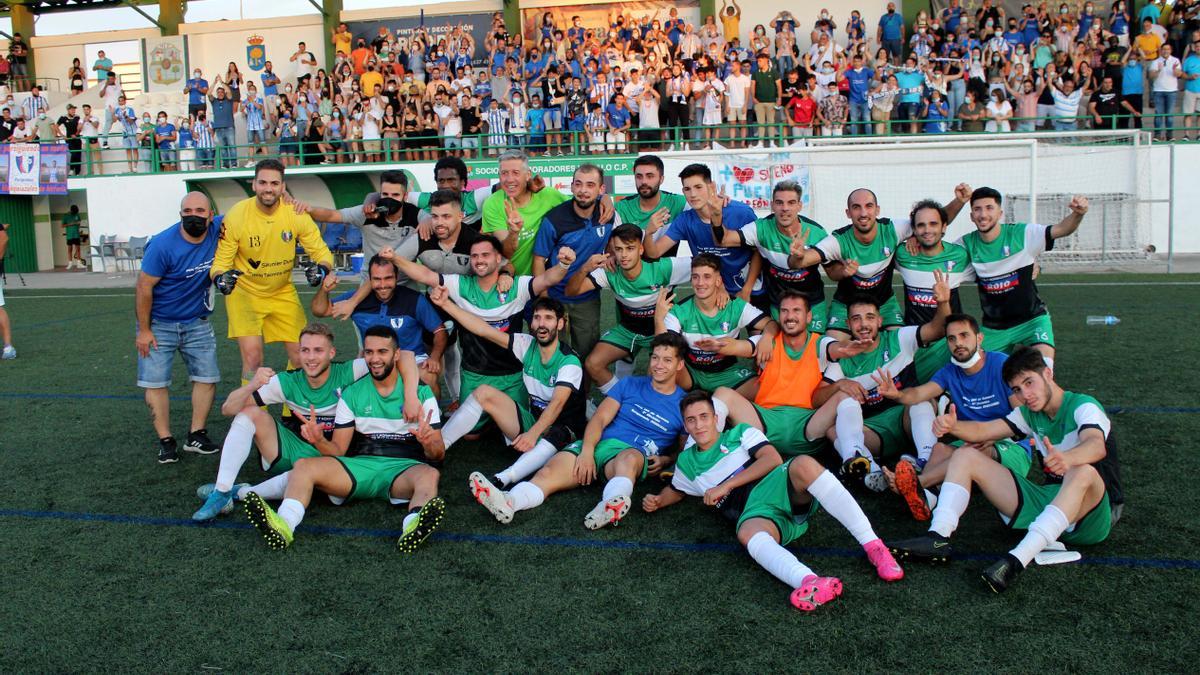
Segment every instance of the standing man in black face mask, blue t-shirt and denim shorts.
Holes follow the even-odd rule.
[[[217,341],[209,324],[209,269],[220,233],[221,217],[212,217],[209,198],[188,192],[179,208],[179,222],[150,239],[142,259],[134,305],[138,387],[145,389],[158,434],[158,464],[179,461],[167,395],[175,352],[182,354],[192,381],[192,425],[184,449],[205,455],[221,449],[204,429],[221,381]]]

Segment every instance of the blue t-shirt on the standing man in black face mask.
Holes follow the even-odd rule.
[[[151,321],[188,323],[212,313],[209,270],[221,238],[221,220],[212,219],[199,244],[184,239],[178,222],[150,239],[142,271],[158,277],[150,301]]]

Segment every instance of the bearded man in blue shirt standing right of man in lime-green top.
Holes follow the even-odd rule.
[[[575,261],[566,276],[551,286],[548,293],[566,307],[566,316],[570,317],[566,322],[570,331],[566,342],[580,358],[587,358],[600,340],[600,293],[589,291],[582,295],[566,295],[566,279],[574,276],[592,256],[605,253],[612,228],[619,225],[616,211],[607,222],[600,220],[600,198],[604,192],[604,169],[590,163],[580,165],[571,178],[572,199],[546,213],[533,243],[535,276],[559,264],[559,249],[565,246],[575,252]]]

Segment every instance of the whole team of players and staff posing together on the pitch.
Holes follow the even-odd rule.
[[[595,492],[588,530],[695,498],[803,611],[842,593],[835,571],[787,548],[818,510],[889,583],[954,558],[972,491],[1015,531],[978,572],[995,592],[1108,538],[1123,504],[1111,423],[1060,384],[1070,374],[1055,369],[1036,281],[1038,256],[1087,227],[1086,198],[1060,222],[1015,223],[991,187],[914,186],[910,203],[880,204],[866,185],[821,195],[845,199],[846,220],[818,223],[798,183],[775,183],[760,215],[703,163],[672,193],[664,161],[642,155],[636,195],[617,198],[596,165],[578,165],[566,195],[520,150],[496,162],[481,189],[452,156],[433,191],[384,171],[344,209],[293,197],[276,160],[222,215],[202,192],[184,198],[146,247],[136,340],[158,461],[218,454],[198,508],[181,510],[245,514],[287,549],[318,503],[388,500],[412,554],[467,518],[448,512],[450,490],[498,527],[568,490]],[[952,240],[959,217],[973,227]],[[340,288],[318,222],[362,233],[361,275]],[[971,293],[978,316],[962,309]],[[241,364],[222,401],[217,303]],[[358,353],[335,331],[354,331]],[[271,342],[286,363],[269,363]],[[176,356],[192,383],[181,443]],[[205,430],[214,404],[232,418],[224,438]],[[486,465],[463,467],[467,485],[440,480],[470,441]],[[911,525],[872,522],[870,500],[905,504],[928,532],[894,537]]]

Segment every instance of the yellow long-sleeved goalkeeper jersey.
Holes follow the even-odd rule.
[[[240,270],[238,288],[272,295],[292,285],[296,243],[313,262],[334,268],[334,255],[308,214],[298,214],[282,203],[274,214],[264,214],[253,197],[242,199],[224,216],[212,271]]]

